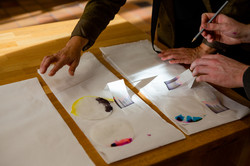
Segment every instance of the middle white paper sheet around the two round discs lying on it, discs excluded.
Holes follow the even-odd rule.
[[[45,82],[49,85],[50,89],[68,112],[71,112],[71,106],[74,101],[83,96],[90,95],[112,98],[107,83],[118,80],[91,53],[83,54],[79,68],[76,71],[77,73],[74,77],[71,77],[71,80],[67,79],[67,67],[62,68],[59,72],[60,78],[57,78],[57,80],[67,80],[69,84],[71,84],[71,81],[74,82],[75,79],[82,80],[75,86],[64,88],[62,86],[64,83],[61,83],[61,81],[57,81],[46,74],[42,75]],[[87,79],[85,75],[91,77],[88,77]],[[64,90],[60,91],[58,87]],[[134,104],[120,109],[114,102],[112,102],[111,105],[113,107],[113,112],[105,119],[83,120],[71,114],[78,126],[82,129],[107,163],[131,157],[185,138],[179,130],[164,121],[137,95],[131,91],[129,94],[132,96],[131,98]],[[130,144],[118,147],[103,146],[96,143],[91,139],[92,127],[100,122],[105,124],[105,120],[126,120],[134,129],[134,140]]]

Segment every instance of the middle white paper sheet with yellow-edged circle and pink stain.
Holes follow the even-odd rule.
[[[66,66],[55,77],[46,74],[41,76],[107,163],[185,138],[132,91],[128,91],[132,104],[120,108],[112,101],[113,96],[107,84],[118,78],[89,52],[82,55],[74,77],[69,76]],[[109,101],[112,113],[103,114],[102,118],[88,116],[92,112],[87,109],[97,108],[95,105],[98,103],[92,100],[97,97]],[[86,99],[88,101],[84,102]],[[120,139],[129,143],[112,147],[113,138],[117,138],[113,140],[115,143]]]

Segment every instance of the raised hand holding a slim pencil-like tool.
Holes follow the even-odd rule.
[[[207,23],[214,13],[203,13],[201,16],[201,27],[205,31],[202,36],[208,42],[218,41],[233,45],[250,42],[249,25],[242,24],[224,14],[215,17],[212,23]]]

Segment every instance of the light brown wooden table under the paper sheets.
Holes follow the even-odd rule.
[[[37,74],[42,58],[57,52],[66,44],[76,23],[77,20],[71,20],[1,31],[0,85],[38,77],[49,99],[90,158],[96,165],[107,165]],[[98,48],[142,39],[150,38],[120,16],[116,16],[89,51],[94,53],[116,76],[122,78],[102,59]],[[163,48],[160,43],[158,45]],[[128,81],[125,82],[134,92],[138,92]],[[224,88],[219,88],[219,90],[234,100],[250,106],[249,101],[233,91]],[[150,101],[140,96],[163,119],[173,124]],[[250,116],[186,137],[185,140],[110,165],[247,165],[250,163]]]

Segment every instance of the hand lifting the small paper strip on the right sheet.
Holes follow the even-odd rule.
[[[243,87],[243,74],[249,66],[219,54],[195,60],[190,69],[197,82],[210,82],[226,88]]]

